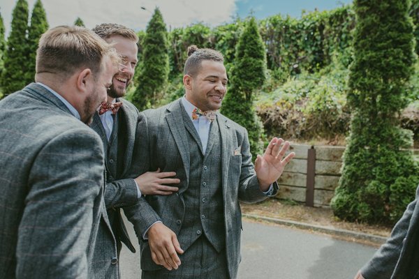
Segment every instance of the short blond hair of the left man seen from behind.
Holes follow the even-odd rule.
[[[76,70],[89,68],[96,77],[102,71],[105,56],[109,56],[112,63],[119,61],[115,50],[93,31],[77,26],[54,27],[43,33],[39,40],[36,74],[68,77]]]

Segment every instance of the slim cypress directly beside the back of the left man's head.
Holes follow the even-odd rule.
[[[29,60],[27,61],[27,84],[34,82],[36,49],[38,48],[39,38],[45,31],[47,31],[47,29],[47,15],[41,0],[36,0],[34,10],[32,10],[31,15],[31,27],[29,27],[28,32]]]

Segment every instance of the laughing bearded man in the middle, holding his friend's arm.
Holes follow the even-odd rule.
[[[120,252],[124,243],[131,252],[135,252],[120,209],[124,209],[128,220],[138,232],[138,216],[142,213],[138,199],[141,195],[170,195],[177,188],[166,184],[179,183],[179,179],[170,178],[176,175],[175,172],[160,172],[159,169],[140,176],[128,175],[135,134],[141,131],[136,130],[139,114],[137,108],[122,97],[133,79],[138,62],[138,36],[120,24],[100,24],[93,31],[115,47],[121,57],[119,72],[112,78],[112,85],[108,89],[108,100],[94,115],[91,128],[101,136],[105,148],[105,204],[117,239],[117,250]]]

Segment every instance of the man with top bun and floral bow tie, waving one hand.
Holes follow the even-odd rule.
[[[239,200],[276,195],[294,156],[285,156],[289,142],[274,137],[253,168],[247,130],[218,112],[228,81],[222,54],[196,46],[188,54],[185,96],[138,121],[133,169],[159,167],[181,181],[175,195],[141,198],[142,279],[237,278]]]

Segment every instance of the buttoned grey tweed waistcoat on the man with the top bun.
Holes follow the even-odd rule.
[[[196,128],[190,119],[184,120],[191,165],[189,186],[183,193],[185,216],[179,231],[179,243],[186,250],[199,237],[207,237],[220,252],[225,246],[225,238],[219,127],[216,121],[212,123],[204,155]]]

